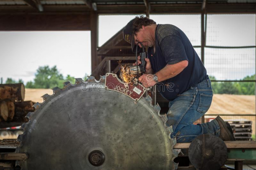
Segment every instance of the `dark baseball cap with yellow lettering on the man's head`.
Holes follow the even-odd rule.
[[[129,42],[132,46],[132,52],[136,53],[136,45],[134,41],[134,35],[133,35],[133,22],[135,18],[132,19],[123,29],[123,36],[124,40]],[[140,47],[138,46],[138,53],[140,52]]]

